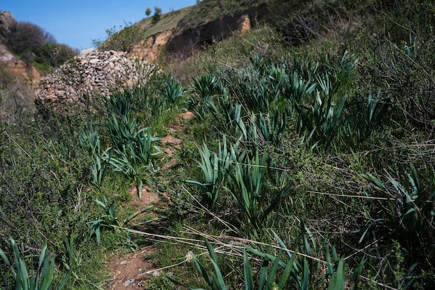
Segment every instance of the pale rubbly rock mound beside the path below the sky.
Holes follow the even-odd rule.
[[[92,106],[92,97],[110,97],[127,86],[143,86],[155,71],[154,65],[121,51],[86,49],[41,79],[35,104],[59,112],[69,106]]]

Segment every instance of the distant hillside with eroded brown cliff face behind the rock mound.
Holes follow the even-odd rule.
[[[213,40],[224,40],[237,31],[250,31],[269,13],[265,1],[231,5],[222,2],[227,1],[202,1],[196,6],[165,13],[157,23],[149,17],[133,24],[136,31],[142,33],[142,38],[131,45],[129,56],[151,62],[173,57],[186,58]],[[128,38],[128,29],[126,27],[118,34]],[[99,49],[115,47],[110,45],[108,39]]]

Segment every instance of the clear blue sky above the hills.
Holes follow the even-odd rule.
[[[19,22],[31,22],[51,33],[57,42],[74,49],[92,47],[92,40],[106,38],[106,29],[136,23],[147,17],[149,7],[178,10],[196,0],[1,0],[0,10],[10,11]]]

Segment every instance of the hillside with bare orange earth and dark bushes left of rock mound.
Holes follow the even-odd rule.
[[[33,89],[42,76],[75,54],[39,26],[0,11],[0,122],[13,123],[35,111]]]

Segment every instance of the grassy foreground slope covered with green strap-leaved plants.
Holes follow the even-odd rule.
[[[40,257],[47,283],[109,289],[109,253],[153,245],[147,289],[433,289],[434,5],[296,7],[187,84],[2,124],[0,287]],[[165,205],[131,207],[142,186]]]

